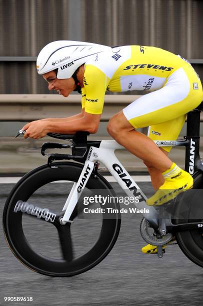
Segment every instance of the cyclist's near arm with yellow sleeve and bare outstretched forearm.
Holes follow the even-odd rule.
[[[23,126],[24,137],[41,138],[48,132],[73,134],[77,131],[95,133],[98,129],[103,108],[105,89],[109,78],[97,67],[87,65],[84,73],[81,116],[73,116],[64,121],[35,121]]]

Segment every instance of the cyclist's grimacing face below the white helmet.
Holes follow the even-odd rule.
[[[59,79],[56,77],[55,71],[50,71],[42,75],[48,83],[48,89],[55,90],[63,96],[68,96],[76,88],[73,77]]]

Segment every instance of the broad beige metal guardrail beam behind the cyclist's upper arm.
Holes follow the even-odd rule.
[[[141,95],[105,95],[101,121],[108,121],[116,112]],[[0,94],[0,121],[32,121],[49,117],[67,117],[81,111],[81,96],[70,94]],[[200,121],[203,121],[201,112]]]

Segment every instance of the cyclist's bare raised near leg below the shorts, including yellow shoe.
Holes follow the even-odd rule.
[[[171,111],[169,114],[170,113]],[[184,117],[184,115],[182,116]],[[161,190],[158,189],[152,197],[147,199],[147,204],[163,204],[176,196],[177,193],[182,191],[182,189],[186,190],[190,188],[193,184],[191,175],[180,169],[175,163],[172,163],[172,161],[149,137],[134,130],[133,127],[130,127],[129,122],[127,122],[126,118],[123,119],[123,117],[123,114],[118,113],[109,121],[109,134],[127,150],[135,154],[137,157],[143,159],[148,163],[148,165],[156,168],[157,171],[152,170],[154,172],[153,177],[156,173],[160,172],[165,176],[164,183],[167,181],[167,185],[164,185],[163,183],[161,186],[159,186],[159,189]],[[178,118],[176,118],[176,120],[178,121]],[[180,129],[178,129],[177,135]],[[166,170],[163,170],[164,167]],[[160,173],[158,174],[159,178],[161,178]],[[172,173],[172,175],[170,175],[170,173]],[[169,180],[167,179],[167,176],[169,177]],[[176,191],[175,193],[171,193],[171,190]]]

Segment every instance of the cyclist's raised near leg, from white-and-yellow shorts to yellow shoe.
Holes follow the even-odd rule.
[[[167,184],[161,185],[160,189],[178,189],[176,192],[181,192],[182,188],[190,188],[193,180],[189,173],[172,163],[157,146],[154,146],[153,141],[150,142],[149,138],[147,140],[145,135],[134,128],[160,124],[183,116],[195,108],[203,97],[202,87],[195,73],[191,72],[191,74],[192,77],[188,78],[183,68],[176,70],[164,87],[139,97],[125,107],[123,113],[116,114],[109,121],[108,132],[117,142],[163,172],[164,183],[167,182]],[[198,90],[194,90],[196,86],[192,86],[192,81],[196,81]],[[174,128],[176,128],[176,121]],[[163,170],[164,167],[167,167],[166,171]],[[162,204],[170,199],[168,196],[176,195],[169,192],[167,197],[165,194],[163,197],[160,196],[161,193],[156,192],[147,200],[147,203]]]

